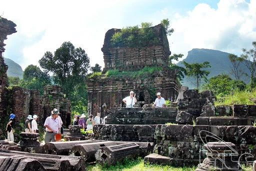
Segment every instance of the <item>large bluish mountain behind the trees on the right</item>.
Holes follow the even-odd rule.
[[[229,54],[230,53],[219,51],[219,50],[193,48],[192,50],[188,51],[187,57],[182,61],[186,61],[187,63],[202,63],[204,61],[208,61],[211,67],[204,68],[204,70],[210,71],[207,78],[210,78],[212,76],[216,76],[222,73],[228,74],[231,78],[233,78],[230,75],[232,64],[228,58]],[[181,63],[182,61],[179,61],[177,65],[184,67],[184,65]],[[240,66],[242,67],[243,71],[249,74],[249,70],[243,64],[241,64]],[[193,83],[191,83],[190,80],[194,81],[195,79],[192,77],[189,77],[189,80],[188,80],[187,77],[185,77],[183,82],[181,82],[181,84],[184,86],[188,86],[189,89],[193,89],[196,86]]]

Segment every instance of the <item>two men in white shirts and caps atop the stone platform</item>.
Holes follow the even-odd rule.
[[[163,108],[165,104],[164,98],[161,97],[160,92],[157,92],[156,95],[157,95],[157,98],[154,100],[154,104],[152,107]],[[137,102],[136,94],[133,91],[130,91],[130,96],[123,98],[122,101],[125,103],[125,107],[133,107],[135,102]]]

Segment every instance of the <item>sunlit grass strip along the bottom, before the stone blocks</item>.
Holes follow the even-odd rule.
[[[252,165],[242,166],[242,171],[249,171],[252,170]],[[101,166],[99,164],[86,164],[86,170],[90,171],[193,171],[197,168],[197,166],[190,166],[190,167],[174,167],[170,165],[160,165],[160,164],[144,164],[144,160],[141,157],[136,159],[124,159],[122,162],[118,162],[115,165],[110,166]]]

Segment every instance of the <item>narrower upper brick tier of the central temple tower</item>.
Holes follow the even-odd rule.
[[[169,43],[161,24],[151,27],[158,43],[138,47],[113,46],[111,38],[114,32],[120,29],[109,29],[105,33],[104,44],[101,48],[104,57],[103,73],[108,69],[119,71],[139,70],[144,66],[166,66],[170,55]]]

